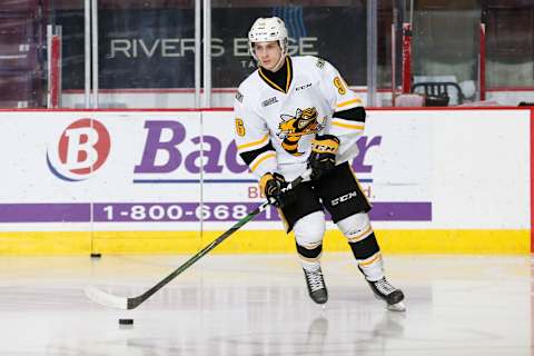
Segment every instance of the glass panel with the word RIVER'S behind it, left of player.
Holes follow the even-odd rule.
[[[98,1],[100,107],[190,107],[195,3]]]

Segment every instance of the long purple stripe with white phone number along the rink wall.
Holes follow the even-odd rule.
[[[185,222],[237,221],[259,202],[99,202],[99,204],[1,204],[0,222]],[[370,218],[378,221],[431,221],[429,202],[376,202]],[[255,220],[277,221],[270,207]]]

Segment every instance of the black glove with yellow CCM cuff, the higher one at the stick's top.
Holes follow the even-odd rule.
[[[334,135],[317,135],[312,141],[312,154],[308,167],[312,168],[312,179],[316,180],[336,167],[336,154],[339,139]]]

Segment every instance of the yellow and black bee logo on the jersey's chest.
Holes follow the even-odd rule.
[[[317,120],[316,108],[297,109],[295,116],[283,113],[280,118],[279,131],[276,135],[283,140],[281,147],[293,156],[304,155],[298,151],[300,138],[320,131],[326,121],[326,118],[323,119],[323,122]]]

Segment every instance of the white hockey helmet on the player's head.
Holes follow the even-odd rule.
[[[288,39],[286,24],[280,18],[258,18],[248,31],[248,48],[254,59],[258,60],[254,52],[255,42],[278,41],[281,48],[281,57],[287,55]]]

